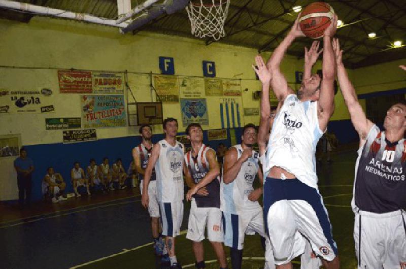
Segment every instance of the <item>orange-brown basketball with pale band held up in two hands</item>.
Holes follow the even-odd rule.
[[[323,37],[324,30],[330,25],[334,10],[324,2],[315,2],[303,9],[299,18],[301,31],[309,38]]]

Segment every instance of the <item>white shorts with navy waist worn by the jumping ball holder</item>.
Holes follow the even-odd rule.
[[[273,247],[275,263],[285,264],[297,256],[299,231],[311,243],[317,256],[333,260],[337,246],[322,197],[317,189],[297,179],[266,178],[264,184],[266,231]],[[304,252],[304,246],[299,253]]]

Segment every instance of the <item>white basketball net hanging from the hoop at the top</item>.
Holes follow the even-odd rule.
[[[224,23],[229,4],[229,0],[190,1],[189,7],[186,6],[186,12],[190,19],[192,34],[198,38],[212,37],[215,40],[224,37]]]

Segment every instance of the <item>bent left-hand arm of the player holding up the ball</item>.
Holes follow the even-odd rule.
[[[293,90],[288,86],[285,76],[282,74],[280,65],[281,61],[289,48],[292,42],[297,37],[303,37],[303,32],[300,30],[299,27],[299,17],[300,14],[297,16],[292,29],[289,31],[288,35],[285,39],[279,44],[279,46],[274,50],[272,55],[270,56],[266,65],[268,66],[269,70],[272,70],[273,80],[271,86],[277,96],[278,100],[284,100],[285,97],[293,93]]]

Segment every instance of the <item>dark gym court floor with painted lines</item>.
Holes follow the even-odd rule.
[[[353,213],[350,208],[355,151],[333,155],[319,163],[319,190],[329,212],[341,268],[356,268]],[[138,188],[71,198],[60,204],[33,204],[19,210],[0,205],[0,268],[160,268],[153,254],[148,212]],[[182,230],[187,228],[190,203],[185,203]],[[218,268],[210,244],[205,244],[207,268]],[[191,242],[176,238],[178,260],[194,267]],[[226,248],[228,253],[228,249]],[[243,268],[263,267],[258,236],[247,236]],[[23,257],[23,258],[22,258]],[[295,268],[299,268],[295,260]]]

